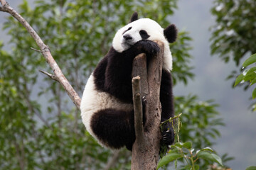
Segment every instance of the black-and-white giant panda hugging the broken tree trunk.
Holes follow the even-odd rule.
[[[111,149],[127,147],[135,141],[132,104],[132,62],[140,53],[147,60],[159,52],[154,40],[164,43],[164,63],[161,77],[161,121],[174,116],[172,94],[172,57],[169,42],[177,37],[176,26],[161,28],[149,18],[138,19],[135,12],[130,23],[114,35],[112,47],[90,75],[80,105],[82,123],[100,145]],[[144,101],[144,100],[142,100]],[[162,132],[161,145],[174,142],[171,123]]]

